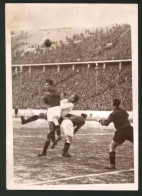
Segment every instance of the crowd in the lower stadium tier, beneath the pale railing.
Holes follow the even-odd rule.
[[[29,67],[23,67],[22,72],[12,72],[13,108],[17,105],[21,109],[45,109],[41,97],[44,94],[43,85],[46,79],[53,79],[60,93],[78,94],[77,110],[110,111],[111,100],[119,98],[122,107],[132,111],[132,67],[130,64],[107,65],[106,68],[92,65],[34,66],[29,73]]]

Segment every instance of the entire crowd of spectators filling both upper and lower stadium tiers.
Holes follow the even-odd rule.
[[[131,59],[131,29],[130,26],[114,25],[110,28],[85,30],[72,37],[55,42],[52,47],[44,48],[43,45],[34,43],[27,50],[21,46],[27,45],[29,34],[12,36],[12,64],[42,64],[83,61],[105,61]],[[34,37],[34,36],[33,36]],[[27,39],[25,39],[27,38]],[[36,38],[38,41],[38,37]],[[91,65],[37,65],[23,66],[22,71],[15,73],[12,69],[13,108],[45,109],[41,97],[44,94],[46,79],[55,82],[56,89],[67,95],[75,93],[80,100],[76,110],[110,111],[111,100],[119,98],[121,106],[132,111],[132,67],[130,63],[102,64],[98,67]]]

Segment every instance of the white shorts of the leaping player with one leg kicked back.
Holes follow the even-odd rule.
[[[54,117],[58,116],[60,118],[61,109],[60,106],[55,106],[48,108],[47,110],[47,120],[54,122]]]

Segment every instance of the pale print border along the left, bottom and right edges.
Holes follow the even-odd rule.
[[[19,5],[19,4],[18,4]],[[105,5],[105,4],[102,4]],[[125,4],[129,5],[129,4]],[[12,13],[6,4],[6,187],[8,190],[138,190],[138,5],[132,10],[132,89],[133,89],[133,127],[134,127],[134,183],[95,184],[95,185],[14,185],[13,176],[13,122],[12,122],[12,74],[11,74],[11,35],[9,26]],[[130,7],[131,9],[131,7]],[[23,13],[22,13],[23,15]],[[24,15],[23,15],[24,17]],[[17,26],[18,28],[18,26]],[[117,172],[117,171],[116,171]],[[95,174],[94,174],[95,175]]]

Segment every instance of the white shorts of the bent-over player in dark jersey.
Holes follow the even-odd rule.
[[[63,120],[61,126],[61,130],[65,133],[66,136],[71,136],[73,137],[74,135],[74,128],[73,128],[73,123],[69,119]]]

